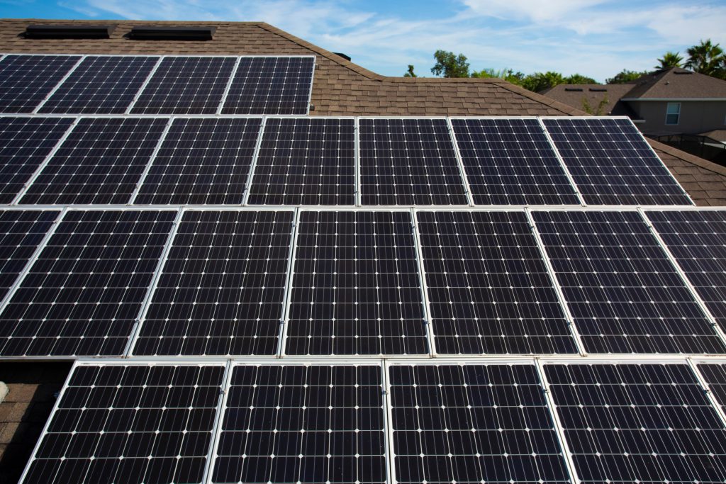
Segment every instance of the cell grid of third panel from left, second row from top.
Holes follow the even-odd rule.
[[[240,204],[261,119],[175,119],[134,200]]]

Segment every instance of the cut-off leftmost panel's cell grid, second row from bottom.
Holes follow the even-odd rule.
[[[30,261],[57,210],[0,210],[0,300]]]

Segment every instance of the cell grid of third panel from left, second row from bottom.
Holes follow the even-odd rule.
[[[274,355],[291,211],[184,213],[136,355]]]

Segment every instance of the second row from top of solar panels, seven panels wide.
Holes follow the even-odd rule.
[[[0,117],[0,202],[692,205],[627,118],[451,122]]]

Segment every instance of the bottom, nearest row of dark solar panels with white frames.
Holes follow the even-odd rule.
[[[722,361],[385,368],[79,364],[23,482],[726,480]]]

